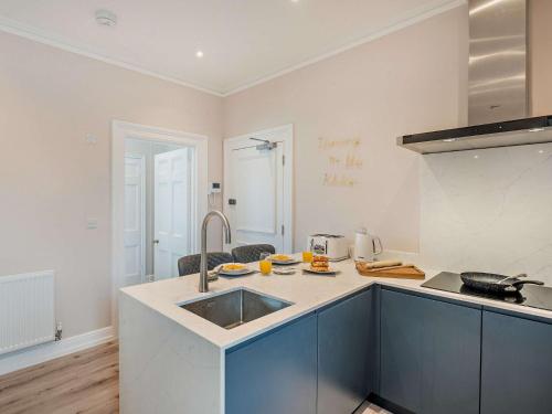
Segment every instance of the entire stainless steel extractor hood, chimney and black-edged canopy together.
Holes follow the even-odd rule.
[[[397,145],[433,153],[552,142],[552,116],[528,118],[528,1],[468,6],[468,126],[405,135]]]

